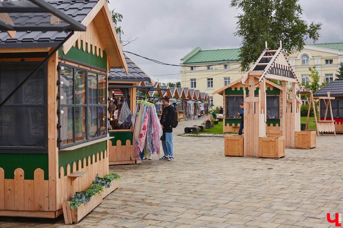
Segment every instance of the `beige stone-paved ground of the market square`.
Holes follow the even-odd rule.
[[[174,161],[110,166],[119,188],[79,224],[2,217],[0,227],[335,227],[326,217],[343,212],[343,135],[317,136],[316,148],[279,160],[225,157],[223,138],[177,136],[205,119],[174,129]]]

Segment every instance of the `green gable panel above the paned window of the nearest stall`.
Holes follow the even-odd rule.
[[[81,47],[82,47],[82,40],[81,40]],[[87,46],[87,43],[86,43]],[[92,45],[91,45],[92,49]],[[100,67],[102,69],[107,69],[107,55],[106,52],[103,51],[103,57],[96,56],[96,54],[92,54],[92,51],[88,53],[87,51],[82,51],[82,48],[78,49],[76,45],[72,47],[66,55],[63,54],[62,48],[58,50],[58,55],[65,56],[67,58],[74,59],[76,61],[80,61],[82,63],[86,63],[92,66]]]

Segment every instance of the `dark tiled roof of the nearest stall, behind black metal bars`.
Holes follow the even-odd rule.
[[[82,22],[94,8],[98,0],[47,0],[52,6],[68,14],[78,22]],[[11,6],[15,1],[1,2],[3,6]],[[50,23],[50,13],[10,13],[14,24],[34,26]],[[42,48],[57,46],[69,33],[58,31],[18,31],[11,38],[6,31],[0,31],[0,48]]]

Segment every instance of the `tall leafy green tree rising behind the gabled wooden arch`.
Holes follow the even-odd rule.
[[[322,23],[311,22],[310,25],[301,19],[301,7],[298,0],[232,0],[231,6],[243,10],[237,16],[235,36],[243,39],[239,57],[251,55],[268,48],[277,50],[282,41],[286,55],[300,51],[304,40],[318,40]],[[261,53],[241,59],[242,72],[249,70],[249,64]]]

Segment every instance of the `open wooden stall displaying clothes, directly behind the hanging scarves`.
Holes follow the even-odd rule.
[[[109,71],[108,90],[113,100],[113,108],[109,110],[111,130],[109,136],[114,137],[109,142],[109,165],[134,164],[132,157],[132,126],[131,123],[122,122],[118,116],[121,108],[125,108],[123,100],[126,100],[131,114],[136,108],[137,88],[146,87],[147,83],[155,84],[129,56],[125,54],[128,74],[124,68],[111,68]],[[137,84],[139,84],[137,86]],[[151,95],[152,91],[148,91]],[[141,93],[138,93],[140,95]]]

